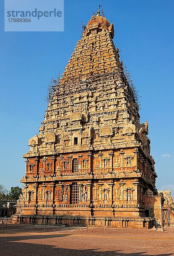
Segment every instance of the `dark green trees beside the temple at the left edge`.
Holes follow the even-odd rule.
[[[22,194],[22,189],[19,186],[11,187],[8,191],[5,186],[0,184],[0,200],[17,201]]]

